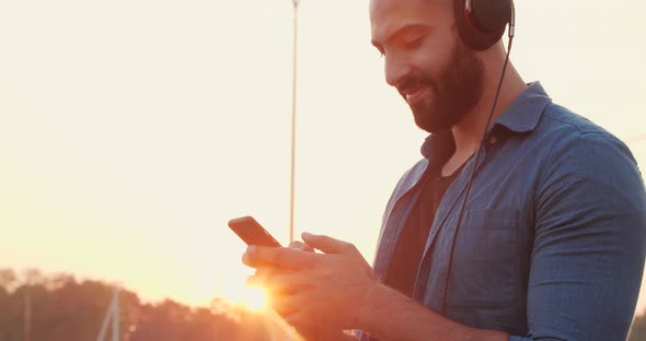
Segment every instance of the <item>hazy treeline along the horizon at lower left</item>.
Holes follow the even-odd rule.
[[[69,274],[20,275],[0,269],[0,341],[96,340],[113,298],[113,287],[100,281],[77,281]],[[119,292],[119,340],[286,340],[267,316],[216,299],[210,308],[191,308],[166,299],[140,302]],[[28,326],[28,328],[27,328]],[[106,340],[112,340],[112,328]]]

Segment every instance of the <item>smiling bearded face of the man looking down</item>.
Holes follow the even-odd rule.
[[[385,59],[385,80],[428,132],[460,122],[482,94],[483,64],[458,37],[452,3],[370,1],[372,44]]]

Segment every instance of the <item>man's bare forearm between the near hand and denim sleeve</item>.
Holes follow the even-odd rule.
[[[379,340],[507,341],[496,330],[460,325],[379,284],[358,313],[357,324]]]

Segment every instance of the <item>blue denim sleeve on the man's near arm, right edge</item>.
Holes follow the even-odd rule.
[[[609,133],[561,144],[534,195],[529,333],[509,340],[625,340],[646,254],[644,183]]]

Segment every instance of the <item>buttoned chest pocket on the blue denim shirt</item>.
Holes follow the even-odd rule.
[[[505,308],[518,295],[518,211],[466,211],[458,231],[447,305]]]

